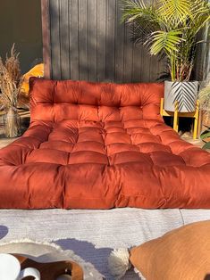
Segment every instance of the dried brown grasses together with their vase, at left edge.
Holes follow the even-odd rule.
[[[18,95],[21,90],[21,69],[14,45],[11,55],[5,62],[0,57],[0,103],[4,110],[4,128],[6,137],[21,134],[21,121],[17,111]]]

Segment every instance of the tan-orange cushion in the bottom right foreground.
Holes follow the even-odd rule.
[[[205,280],[210,277],[210,220],[181,226],[130,251],[147,280]]]

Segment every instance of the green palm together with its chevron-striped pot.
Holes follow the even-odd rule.
[[[122,0],[122,21],[133,30],[133,38],[143,43],[152,55],[166,57],[171,80],[164,82],[164,109],[194,111],[197,81],[191,81],[198,32],[210,21],[206,0]]]

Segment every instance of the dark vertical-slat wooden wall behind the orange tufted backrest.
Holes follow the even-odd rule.
[[[44,59],[46,67],[51,62],[51,78],[155,81],[163,62],[150,58],[141,45],[130,43],[130,31],[121,23],[121,0],[42,2],[42,6],[49,2],[50,38],[44,42],[48,62]]]

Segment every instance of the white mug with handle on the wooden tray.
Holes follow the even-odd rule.
[[[35,280],[41,279],[38,269],[25,268],[21,270],[21,264],[17,258],[11,254],[0,253],[1,280],[21,280],[27,276],[33,276]]]

